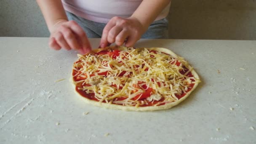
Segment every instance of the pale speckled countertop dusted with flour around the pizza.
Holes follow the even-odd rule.
[[[90,41],[96,48],[100,39]],[[168,110],[96,107],[81,101],[69,81],[75,51],[53,51],[48,38],[0,37],[0,143],[256,143],[256,41],[139,40],[135,46],[171,49],[202,83]]]

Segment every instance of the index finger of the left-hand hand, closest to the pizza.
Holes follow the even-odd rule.
[[[91,44],[83,29],[75,21],[69,21],[68,24],[70,24],[70,29],[77,36],[79,48],[84,51],[91,51]]]

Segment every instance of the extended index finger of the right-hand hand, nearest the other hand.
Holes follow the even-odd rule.
[[[102,36],[101,36],[101,43],[100,43],[101,48],[105,48],[108,45],[108,40],[107,40],[108,33],[110,29],[115,26],[116,20],[117,20],[117,17],[112,18],[104,27]]]

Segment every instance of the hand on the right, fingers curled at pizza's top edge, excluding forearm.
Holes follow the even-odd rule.
[[[113,17],[104,27],[101,37],[100,47],[104,48],[109,43],[131,47],[139,40],[147,28],[143,27],[136,17],[127,19]]]

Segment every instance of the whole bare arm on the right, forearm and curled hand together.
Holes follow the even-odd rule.
[[[113,17],[102,32],[101,48],[108,43],[125,43],[127,47],[134,45],[170,2],[171,0],[143,0],[131,17]]]

